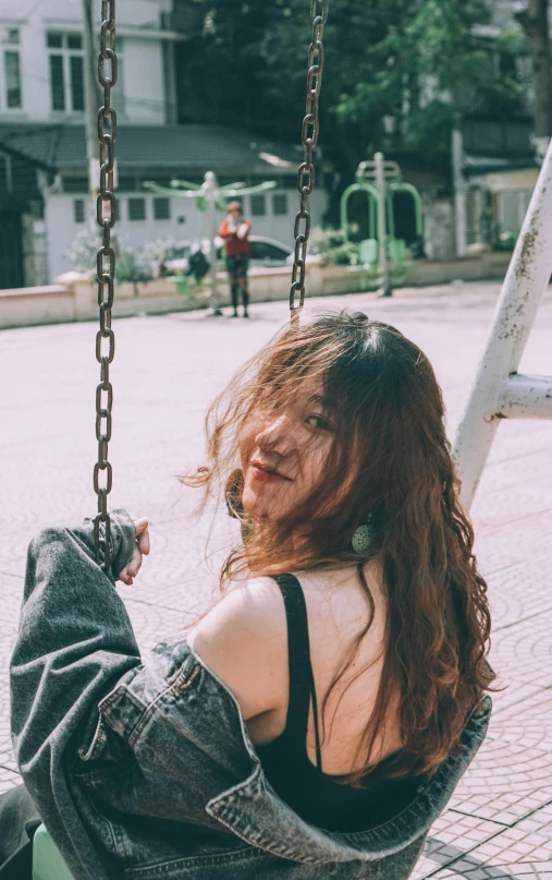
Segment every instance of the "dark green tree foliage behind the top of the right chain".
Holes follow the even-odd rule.
[[[177,49],[181,121],[242,124],[298,143],[309,7],[195,0],[203,14]],[[449,167],[454,94],[490,95],[486,52],[473,36],[488,21],[486,0],[331,0],[320,144],[342,182],[377,149]],[[512,106],[516,87],[496,83],[500,106]]]

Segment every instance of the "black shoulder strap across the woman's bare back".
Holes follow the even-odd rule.
[[[322,770],[318,704],[315,676],[310,663],[307,605],[303,588],[294,575],[273,575],[280,587],[287,619],[287,658],[290,665],[290,704],[286,734],[296,742],[296,748],[307,749],[307,728],[310,701],[316,735],[316,763]]]

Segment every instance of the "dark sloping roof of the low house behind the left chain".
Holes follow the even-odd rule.
[[[0,148],[4,145],[53,170],[87,167],[84,125],[0,123]],[[303,152],[296,145],[223,125],[119,125],[115,155],[120,168],[248,167],[255,172],[290,174]]]

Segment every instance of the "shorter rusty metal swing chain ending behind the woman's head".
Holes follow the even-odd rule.
[[[320,11],[319,11],[320,7]],[[315,189],[315,166],[312,154],[318,142],[318,103],[322,87],[322,71],[324,67],[324,47],[322,44],[324,24],[328,21],[329,0],[310,0],[310,17],[312,19],[312,40],[308,49],[307,72],[307,106],[303,120],[302,143],[305,147],[305,158],[297,171],[297,190],[300,195],[300,206],[295,217],[293,236],[295,238],[295,258],[292,272],[292,286],[290,290],[290,312],[292,325],[299,320],[299,312],[305,302],[305,264],[307,258],[307,243],[310,234],[310,214],[308,212],[308,197]],[[304,227],[302,229],[302,222]],[[296,298],[298,294],[298,303]]]

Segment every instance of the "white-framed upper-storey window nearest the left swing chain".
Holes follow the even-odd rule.
[[[84,56],[81,34],[48,33],[52,110],[84,110]]]

